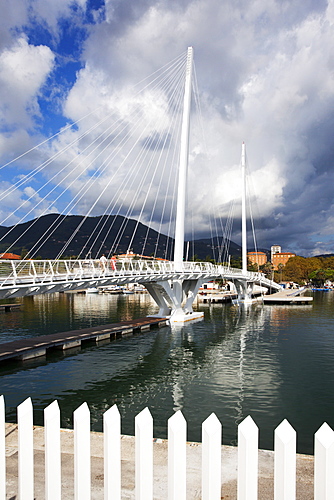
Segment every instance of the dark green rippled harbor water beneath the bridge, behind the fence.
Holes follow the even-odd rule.
[[[214,412],[223,443],[236,444],[237,425],[251,415],[260,447],[273,449],[275,427],[286,418],[300,453],[313,453],[323,422],[334,428],[334,292],[315,292],[312,305],[199,304],[204,320],[163,327],[100,346],[54,353],[0,366],[6,420],[31,397],[34,421],[59,402],[63,427],[84,401],[92,430],[117,404],[122,432],[146,406],[154,436],[167,437],[167,419],[182,410],[189,441]],[[139,318],[156,312],[146,294],[50,294],[22,299],[20,310],[0,313],[0,342]]]

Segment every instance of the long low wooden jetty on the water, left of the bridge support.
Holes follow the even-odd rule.
[[[54,333],[52,335],[41,335],[0,345],[0,362],[9,360],[24,361],[40,356],[45,356],[47,351],[53,349],[71,349],[80,347],[83,342],[110,341],[123,335],[133,335],[154,327],[162,327],[167,324],[167,318],[140,318],[120,323],[111,323],[82,330]]]

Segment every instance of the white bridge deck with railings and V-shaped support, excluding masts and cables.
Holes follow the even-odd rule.
[[[183,308],[191,311],[192,301],[199,287],[206,281],[224,279],[250,286],[260,285],[273,290],[280,286],[262,273],[209,262],[174,262],[158,260],[103,262],[84,260],[12,260],[0,263],[0,299],[23,297],[43,293],[65,292],[89,287],[107,287],[139,283],[144,285],[159,305],[161,315],[170,315],[178,305],[188,301]],[[182,284],[180,304],[177,304],[173,287]],[[189,309],[189,310],[188,310]]]

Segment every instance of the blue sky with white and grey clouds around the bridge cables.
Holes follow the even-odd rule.
[[[191,143],[190,151],[197,236],[208,234],[209,206],[225,217],[232,199],[240,205],[245,141],[258,245],[334,252],[334,1],[0,0],[0,7],[1,165],[102,105],[101,118],[116,94],[130,102],[129,86],[193,46],[206,133],[205,148]],[[80,132],[66,130],[43,155]],[[0,190],[41,157],[35,151],[0,170]],[[56,192],[47,202],[37,188],[41,179],[52,186],[52,168],[1,203],[5,225],[20,220],[12,215],[20,203],[28,218],[62,211]],[[79,184],[70,186],[72,197]],[[112,190],[114,183],[92,215],[103,213]],[[75,213],[84,209],[82,202]]]

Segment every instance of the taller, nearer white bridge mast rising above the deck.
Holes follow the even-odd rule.
[[[175,222],[175,248],[174,268],[175,271],[182,270],[184,249],[184,217],[186,209],[186,187],[189,156],[189,125],[191,104],[191,78],[193,67],[193,48],[188,47],[187,69],[183,100],[183,117],[181,130],[180,162],[179,162],[179,186],[177,194],[177,210]]]

